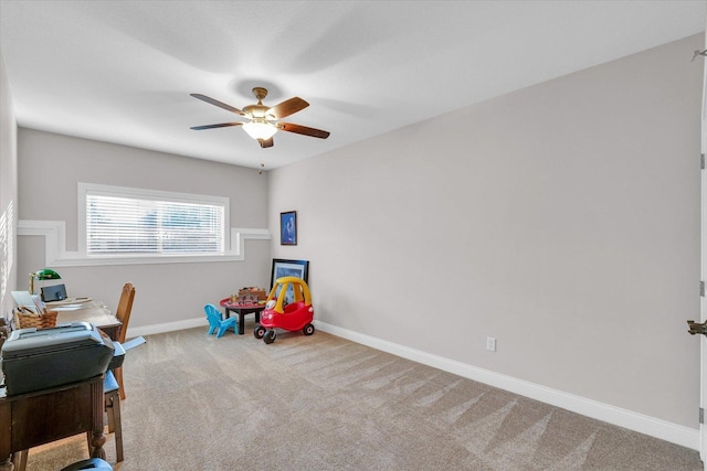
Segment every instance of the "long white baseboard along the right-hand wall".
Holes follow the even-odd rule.
[[[362,345],[381,350],[428,366],[433,366],[479,383],[488,384],[541,403],[561,407],[587,417],[613,424],[629,430],[634,430],[661,440],[692,448],[693,450],[699,450],[699,430],[697,429],[679,426],[655,417],[622,409],[620,407],[614,407],[609,404],[599,403],[597,400],[576,396],[573,394],[568,394],[562,390],[552,389],[527,381],[517,379],[488,370],[478,368],[454,360],[432,355],[397,343],[327,324],[326,322],[315,321],[314,324],[323,332],[327,332]]]

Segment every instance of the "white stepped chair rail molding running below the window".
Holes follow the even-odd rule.
[[[84,267],[96,265],[190,264],[204,261],[240,261],[245,259],[245,240],[270,240],[268,229],[232,227],[230,247],[214,255],[88,255],[66,250],[65,221],[18,221],[18,236],[44,237],[44,265],[48,267]]]

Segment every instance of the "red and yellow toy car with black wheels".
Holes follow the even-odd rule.
[[[265,309],[261,312],[261,323],[255,327],[255,339],[273,343],[277,333],[275,329],[297,331],[305,335],[314,333],[314,307],[307,283],[297,277],[282,277],[275,280],[270,291]]]

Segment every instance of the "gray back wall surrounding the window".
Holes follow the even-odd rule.
[[[76,250],[77,182],[226,196],[231,226],[267,228],[267,180],[251,169],[20,128],[20,220],[65,221]],[[126,281],[136,286],[130,329],[202,318],[203,306],[243,286],[270,281],[270,242],[247,240],[245,260],[61,267],[70,296],[115,309]],[[18,239],[19,285],[44,267],[44,237]],[[27,288],[23,288],[27,289]],[[129,335],[130,330],[128,330]]]

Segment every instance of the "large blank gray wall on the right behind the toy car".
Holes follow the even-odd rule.
[[[272,171],[273,256],[330,325],[697,429],[701,41]]]

